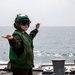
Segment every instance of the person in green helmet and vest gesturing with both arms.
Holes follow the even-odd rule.
[[[30,19],[27,15],[18,14],[15,18],[16,30],[12,35],[2,36],[8,39],[10,44],[9,58],[13,75],[32,75],[34,67],[33,39],[38,33],[40,23],[28,34]]]

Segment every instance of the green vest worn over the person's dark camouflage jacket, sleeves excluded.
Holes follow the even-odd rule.
[[[13,47],[10,46],[9,58],[11,66],[16,68],[32,68],[34,64],[33,64],[33,49],[31,47],[32,40],[30,36],[27,33],[23,34],[18,30],[15,30],[13,35],[14,34],[19,35],[20,38],[22,39],[24,51],[21,54],[21,56],[18,58],[17,54],[13,50]]]

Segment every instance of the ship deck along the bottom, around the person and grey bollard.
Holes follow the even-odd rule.
[[[7,64],[0,64],[0,75],[13,75],[10,69],[5,69]],[[65,75],[75,75],[75,64],[65,64]],[[73,71],[70,71],[73,69]],[[55,75],[53,65],[40,65],[33,69],[33,75]]]

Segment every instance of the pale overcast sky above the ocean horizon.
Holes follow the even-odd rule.
[[[0,26],[13,26],[17,14],[31,26],[75,26],[75,0],[0,0]]]

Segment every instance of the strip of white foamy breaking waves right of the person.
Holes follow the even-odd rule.
[[[75,53],[53,53],[48,51],[34,51],[35,56],[51,56],[51,57],[75,57]]]

